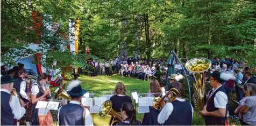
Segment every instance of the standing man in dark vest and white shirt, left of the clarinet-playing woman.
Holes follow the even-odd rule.
[[[13,88],[16,89],[19,94],[19,98],[25,101],[25,103],[31,101],[31,99],[27,96],[27,82],[24,80],[26,76],[26,70],[24,68],[18,69],[18,80],[13,82]],[[26,109],[26,124],[28,125],[30,122],[30,110]]]

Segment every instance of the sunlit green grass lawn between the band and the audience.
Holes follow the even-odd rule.
[[[150,82],[148,81],[141,81],[137,80],[133,77],[124,77],[124,76],[117,76],[112,75],[110,77],[106,76],[96,76],[96,77],[90,77],[90,76],[84,76],[81,75],[79,77],[79,80],[82,81],[82,88],[94,91],[95,93],[101,93],[102,91],[110,91],[115,88],[117,82],[123,82],[126,86],[126,94],[130,97],[131,93],[133,91],[137,91],[138,93],[147,93],[150,88]],[[65,81],[67,84],[68,81]],[[101,94],[96,94],[96,96],[101,96]],[[132,99],[134,100],[134,99]],[[133,104],[135,102],[133,101]],[[136,107],[138,104],[136,105]],[[137,108],[136,108],[137,110]],[[106,117],[100,117],[98,114],[91,114],[94,118],[94,124],[95,125],[108,125],[110,116]],[[137,119],[141,120],[142,114],[137,113]],[[204,125],[204,120],[201,115],[198,114],[197,110],[195,109],[194,115],[193,115],[193,125]],[[231,124],[240,124],[236,120],[231,120]]]

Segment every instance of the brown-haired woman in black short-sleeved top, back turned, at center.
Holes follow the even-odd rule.
[[[112,102],[112,108],[119,113],[121,112],[120,108],[122,108],[123,103],[125,102],[132,103],[131,97],[126,96],[126,88],[122,82],[117,83],[116,88],[114,90],[114,95],[110,98],[110,101]],[[115,119],[115,117],[111,117],[109,124],[111,124],[112,121],[115,121],[115,120],[117,120]]]

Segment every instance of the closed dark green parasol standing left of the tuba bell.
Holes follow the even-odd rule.
[[[170,86],[169,84],[169,78],[168,76],[170,76],[171,74],[175,74],[175,57],[173,56],[173,54],[170,54],[169,59],[167,60],[166,64],[168,65],[168,69],[167,69],[167,77],[166,77],[166,87],[165,90],[168,91],[168,88]]]

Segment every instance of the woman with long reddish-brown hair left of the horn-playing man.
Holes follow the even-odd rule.
[[[161,88],[157,80],[152,80],[150,82],[150,91],[146,97],[159,97],[160,94],[152,93],[162,93],[162,96],[165,95],[165,88]],[[155,109],[153,106],[150,106],[150,112],[143,115],[143,125],[161,125],[158,123],[158,114],[160,110]]]

